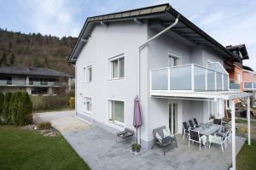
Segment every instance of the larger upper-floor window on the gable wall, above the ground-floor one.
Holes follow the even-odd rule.
[[[125,77],[125,58],[110,60],[111,64],[111,79],[119,79]]]

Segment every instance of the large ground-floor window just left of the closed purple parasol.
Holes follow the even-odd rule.
[[[108,100],[109,122],[124,123],[125,107],[123,101]]]

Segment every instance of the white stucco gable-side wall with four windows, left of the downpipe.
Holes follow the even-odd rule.
[[[146,25],[125,21],[96,26],[76,63],[77,112],[121,130],[108,122],[108,99],[125,101],[125,127],[132,126],[137,95],[137,49],[147,39]],[[109,80],[109,58],[125,55],[125,78]],[[142,54],[143,58],[143,54]],[[84,82],[84,67],[92,66],[92,82]],[[91,97],[91,116],[84,112],[83,97]],[[143,111],[146,110],[143,105]],[[146,114],[144,114],[145,116]]]

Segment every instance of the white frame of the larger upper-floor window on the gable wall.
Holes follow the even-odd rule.
[[[119,60],[120,59],[124,59],[124,77],[120,77],[119,76],[119,71],[120,71],[120,67],[119,67]],[[117,60],[118,61],[118,72],[117,72],[117,77],[113,77],[113,61]],[[119,54],[117,56],[114,56],[112,58],[108,59],[109,62],[109,80],[120,80],[120,79],[125,79],[125,54]]]

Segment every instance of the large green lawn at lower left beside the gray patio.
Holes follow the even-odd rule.
[[[44,137],[38,131],[0,126],[0,169],[89,170],[60,135]]]

